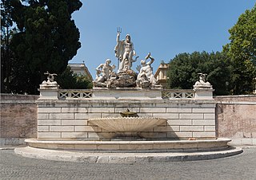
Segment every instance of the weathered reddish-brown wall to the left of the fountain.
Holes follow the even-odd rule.
[[[39,96],[1,94],[0,145],[21,144],[37,137]]]

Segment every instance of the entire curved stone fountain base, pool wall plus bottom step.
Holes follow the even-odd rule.
[[[18,155],[57,161],[90,163],[171,162],[223,158],[242,153],[230,139],[169,141],[72,141],[26,139]]]

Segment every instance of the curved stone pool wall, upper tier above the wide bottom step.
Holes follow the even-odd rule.
[[[165,140],[165,141],[78,141],[58,139],[26,139],[30,147],[87,152],[186,152],[221,151],[230,139]]]

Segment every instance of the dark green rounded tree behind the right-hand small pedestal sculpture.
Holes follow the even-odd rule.
[[[207,73],[206,80],[214,86],[214,94],[224,95],[229,92],[230,61],[226,53],[181,53],[170,61],[167,72],[169,88],[193,88],[198,80],[198,73]]]

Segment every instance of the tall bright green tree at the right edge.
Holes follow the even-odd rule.
[[[251,93],[256,76],[256,4],[252,10],[241,14],[229,33],[230,43],[223,47],[223,51],[232,63],[231,93]]]

